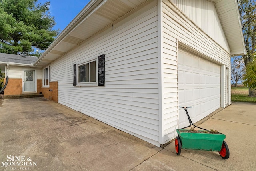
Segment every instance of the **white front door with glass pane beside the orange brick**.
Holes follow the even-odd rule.
[[[36,92],[35,70],[24,70],[23,91],[24,92]]]

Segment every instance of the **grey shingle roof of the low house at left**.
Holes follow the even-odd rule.
[[[37,57],[0,53],[0,63],[14,62],[20,64],[34,64],[36,60],[38,60]]]

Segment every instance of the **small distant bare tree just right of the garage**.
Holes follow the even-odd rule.
[[[231,81],[234,87],[237,86],[239,81],[242,81],[245,72],[245,66],[241,62],[234,60],[231,64]]]

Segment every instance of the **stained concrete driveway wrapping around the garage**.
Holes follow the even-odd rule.
[[[234,103],[200,127],[226,134],[218,152],[164,149],[44,98],[0,102],[0,170],[256,170],[256,104]]]

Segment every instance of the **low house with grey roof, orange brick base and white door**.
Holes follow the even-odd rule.
[[[0,53],[1,72],[10,78],[4,95],[37,93],[39,89],[36,80],[40,79],[42,82],[42,69],[33,66],[36,60],[38,58],[32,56]]]

